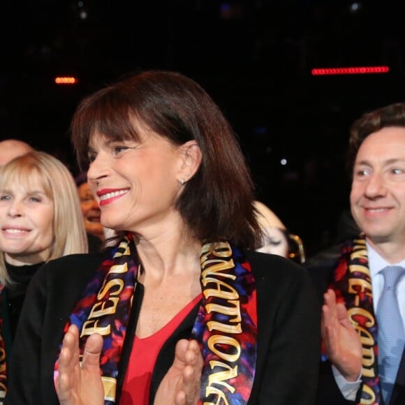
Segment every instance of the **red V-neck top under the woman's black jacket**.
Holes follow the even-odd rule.
[[[151,336],[140,339],[135,336],[122,386],[120,405],[148,405],[152,371],[161,347],[187,314],[201,300],[197,295],[172,320]]]

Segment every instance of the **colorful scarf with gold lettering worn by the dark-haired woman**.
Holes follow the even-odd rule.
[[[78,326],[80,353],[90,334],[103,336],[105,405],[116,401],[117,369],[138,268],[135,243],[128,234],[103,261],[64,329],[72,323]],[[191,337],[200,343],[204,359],[198,404],[247,404],[256,369],[256,283],[251,267],[228,242],[204,244],[201,286],[202,304]],[[57,376],[58,362],[55,381]]]

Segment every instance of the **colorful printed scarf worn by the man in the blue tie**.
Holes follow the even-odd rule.
[[[330,284],[338,302],[344,302],[362,343],[362,395],[360,405],[381,403],[378,377],[377,326],[373,309],[369,260],[364,235],[342,245],[339,263]],[[325,360],[325,355],[323,355]]]

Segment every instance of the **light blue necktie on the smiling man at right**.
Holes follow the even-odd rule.
[[[390,404],[392,388],[404,351],[404,325],[396,294],[397,282],[404,272],[405,269],[400,266],[388,266],[381,270],[385,282],[377,307],[377,343],[378,375],[385,404]]]

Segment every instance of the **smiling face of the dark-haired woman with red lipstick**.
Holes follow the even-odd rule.
[[[141,140],[93,135],[87,179],[107,228],[160,237],[178,228],[180,148],[145,127]]]

